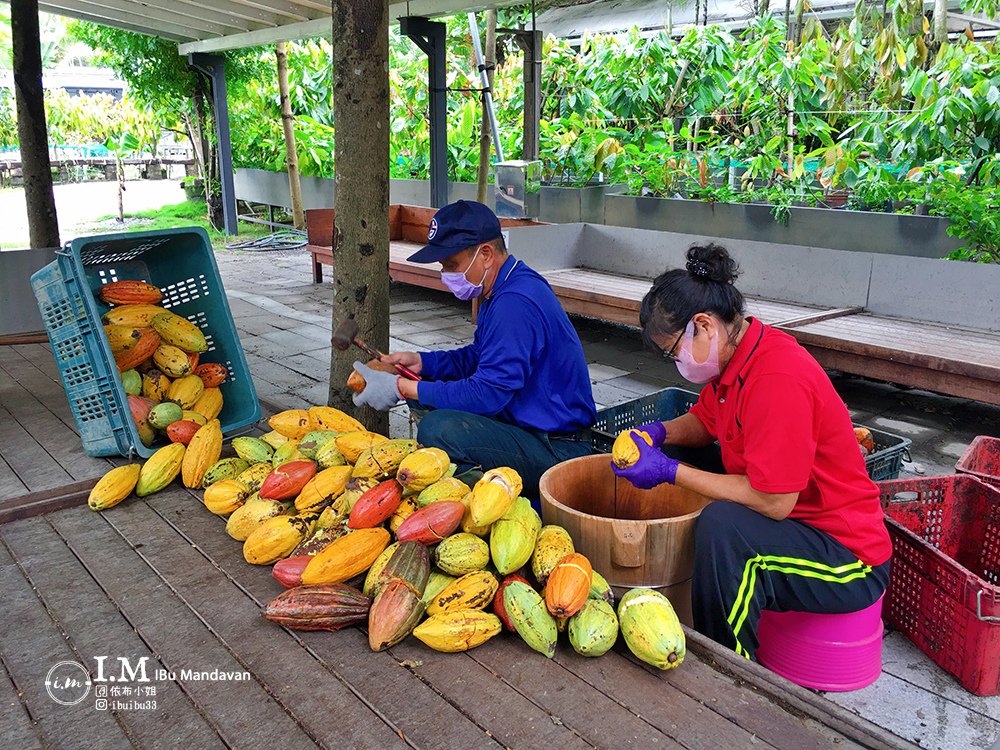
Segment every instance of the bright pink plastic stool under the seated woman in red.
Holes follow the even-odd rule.
[[[882,597],[843,615],[761,612],[757,661],[797,685],[858,690],[882,674]]]

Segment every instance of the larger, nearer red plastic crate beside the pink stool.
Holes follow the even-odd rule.
[[[1000,489],[967,475],[879,483],[885,619],[962,686],[1000,693]]]

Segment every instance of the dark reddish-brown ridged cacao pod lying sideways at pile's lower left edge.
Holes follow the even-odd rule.
[[[364,622],[371,599],[343,583],[296,586],[268,602],[264,617],[296,630],[340,630]]]

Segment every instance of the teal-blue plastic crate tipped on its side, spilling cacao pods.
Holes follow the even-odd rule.
[[[78,237],[57,255],[54,263],[31,277],[31,286],[84,451],[92,456],[134,451],[148,457],[156,450],[139,439],[101,325],[101,315],[110,308],[94,292],[112,281],[156,284],[163,291],[161,307],[204,331],[208,351],[200,362],[217,362],[229,371],[220,386],[223,432],[260,420],[257,391],[204,229]]]

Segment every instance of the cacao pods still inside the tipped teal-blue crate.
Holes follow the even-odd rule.
[[[147,448],[165,437],[188,445],[222,411],[225,365],[199,362],[208,349],[194,323],[158,307],[163,293],[145,281],[113,281],[97,296],[101,317],[139,438]],[[166,442],[165,440],[163,442]]]

